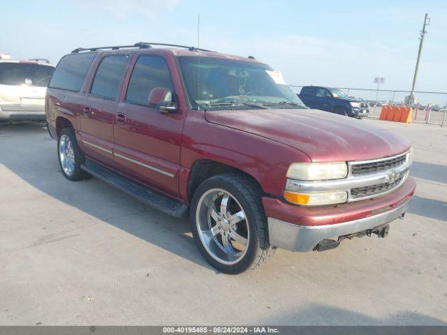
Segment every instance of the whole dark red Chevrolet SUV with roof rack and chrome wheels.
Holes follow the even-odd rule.
[[[67,179],[93,175],[189,216],[200,253],[230,274],[276,248],[385,237],[404,216],[416,187],[408,140],[309,110],[254,57],[154,45],[59,61],[45,110]]]

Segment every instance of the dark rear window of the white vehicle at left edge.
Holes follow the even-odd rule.
[[[47,65],[0,63],[0,84],[47,87],[53,71],[54,68]]]

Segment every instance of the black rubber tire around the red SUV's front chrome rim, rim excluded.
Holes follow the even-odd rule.
[[[235,198],[245,212],[247,217],[246,224],[249,225],[249,239],[247,251],[244,256],[233,265],[222,264],[214,259],[198,236],[198,225],[196,223],[196,214],[198,213],[198,202],[200,198],[209,190],[222,189]],[[191,230],[198,250],[203,258],[215,269],[226,274],[240,274],[247,269],[256,269],[267,262],[274,251],[275,247],[270,246],[268,237],[267,218],[264,213],[261,200],[262,191],[254,179],[242,173],[220,174],[203,181],[198,186],[191,201]]]

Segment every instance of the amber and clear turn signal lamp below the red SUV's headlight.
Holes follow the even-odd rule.
[[[319,204],[340,204],[348,200],[346,191],[298,193],[284,191],[284,198],[293,204],[302,204],[306,206],[318,206]]]

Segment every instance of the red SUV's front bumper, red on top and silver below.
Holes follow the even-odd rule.
[[[385,225],[404,214],[415,188],[416,182],[409,177],[386,195],[325,207],[295,206],[264,197],[270,244],[290,251],[312,251],[324,239]]]

